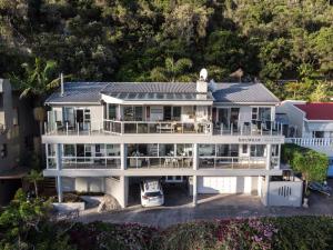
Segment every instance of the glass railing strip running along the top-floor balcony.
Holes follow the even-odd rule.
[[[94,134],[213,134],[213,136],[282,136],[282,126],[275,121],[251,121],[242,124],[182,121],[114,121],[103,122],[53,122],[44,123],[49,136],[94,136]]]

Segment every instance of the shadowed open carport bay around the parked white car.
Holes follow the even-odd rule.
[[[129,178],[129,207],[141,206],[140,182],[144,179],[150,178]],[[157,177],[151,179],[157,179]],[[164,192],[164,207],[182,206],[192,202],[192,198],[189,194],[188,177],[161,177],[160,180]]]

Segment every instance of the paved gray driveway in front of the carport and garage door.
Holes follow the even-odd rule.
[[[244,194],[201,196],[198,206],[192,203],[141,208],[132,206],[117,212],[98,213],[95,209],[83,211],[79,221],[105,221],[113,223],[142,223],[160,228],[192,220],[213,220],[235,217],[283,217],[305,214],[333,216],[333,198],[313,193],[310,208],[264,207],[258,197]]]

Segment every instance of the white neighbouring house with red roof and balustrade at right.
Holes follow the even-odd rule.
[[[283,101],[276,116],[286,116],[286,142],[325,153],[333,176],[333,102]]]

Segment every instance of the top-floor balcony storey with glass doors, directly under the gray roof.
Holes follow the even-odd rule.
[[[214,108],[210,106],[61,107],[48,113],[48,136],[95,134],[208,134],[281,136],[268,107]]]

